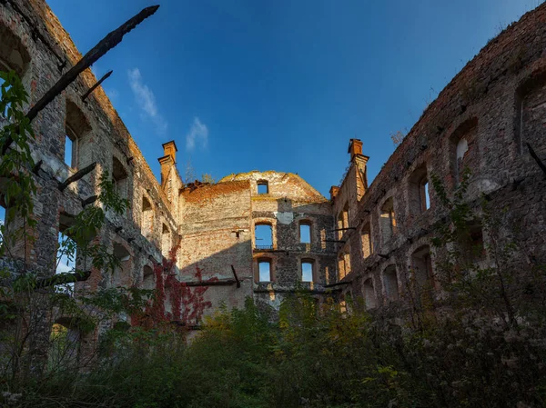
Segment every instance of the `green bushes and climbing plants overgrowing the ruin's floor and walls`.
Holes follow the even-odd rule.
[[[0,76],[0,111],[10,120],[2,141],[10,149],[0,164],[8,222],[25,220],[32,236],[32,194],[26,170],[34,165],[32,136],[15,75]],[[7,101],[7,102],[6,102]],[[11,113],[10,113],[11,112]],[[23,184],[15,184],[16,174]],[[432,183],[446,207],[433,241],[435,276],[444,294],[409,282],[404,302],[367,312],[358,300],[343,310],[335,294],[318,305],[294,294],[275,315],[248,299],[242,310],[223,309],[203,330],[188,333],[169,322],[131,327],[147,298],[136,289],[99,290],[76,298],[55,290],[86,268],[55,281],[24,268],[0,271],[0,403],[21,407],[541,407],[546,404],[546,268],[521,264],[522,252],[506,228],[505,209],[484,197],[475,214],[464,197],[468,173],[455,194]],[[3,186],[4,188],[4,186]],[[3,190],[5,191],[5,190]],[[123,213],[126,202],[107,175],[101,194],[66,234],[62,253],[84,255],[84,264],[106,272],[116,266],[93,241],[103,209]],[[102,206],[99,206],[100,203]],[[103,208],[103,209],[101,209]],[[472,227],[487,234],[488,262]],[[27,230],[30,229],[30,230]],[[9,228],[8,228],[9,229]],[[9,231],[1,254],[9,260]],[[13,266],[13,265],[12,265]],[[17,266],[17,264],[15,264]],[[164,294],[163,294],[164,296]],[[56,316],[64,320],[57,323]],[[117,323],[113,323],[117,322]],[[82,356],[81,337],[101,328],[97,353]],[[49,329],[53,330],[49,330]],[[44,335],[44,333],[46,335]]]

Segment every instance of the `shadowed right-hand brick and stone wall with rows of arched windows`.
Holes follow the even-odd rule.
[[[358,201],[358,164],[351,157],[348,175],[332,194],[335,216],[349,203],[349,226],[355,228],[338,247],[339,255],[350,254],[351,273],[339,276],[344,293],[364,296],[371,306],[388,304],[393,282],[402,293],[410,270],[433,268],[430,236],[446,214],[430,183],[430,208],[421,206],[420,186],[436,174],[452,194],[465,166],[471,174],[465,200],[478,213],[481,194],[492,207],[508,208],[511,228],[503,234],[521,245],[521,263],[546,261],[546,182],[527,146],[546,162],[544,21],[541,5],[491,40],[430,104]],[[365,257],[368,229],[372,254]]]

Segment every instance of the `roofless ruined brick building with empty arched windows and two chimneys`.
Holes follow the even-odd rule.
[[[82,211],[83,200],[96,194],[98,177],[107,170],[131,206],[123,216],[109,214],[97,239],[121,266],[112,274],[93,270],[76,290],[154,288],[154,265],[177,247],[177,282],[207,288],[201,292],[203,313],[220,304],[241,306],[248,296],[277,308],[296,289],[318,302],[326,294],[351,294],[369,308],[380,307],[399,299],[408,274],[418,282],[433,277],[430,235],[445,214],[430,174],[452,191],[469,167],[468,202],[477,207],[485,193],[499,207],[508,206],[534,259],[521,262],[543,262],[544,21],[541,5],[491,40],[430,104],[371,184],[365,144],[351,139],[349,170],[329,199],[297,174],[273,171],[183,184],[175,142],[163,144],[157,181],[103,89],[82,101],[96,83],[87,70],[33,122],[32,152],[42,162],[35,174],[38,224],[35,242],[18,255],[36,267],[53,265],[57,235]],[[21,76],[31,104],[80,57],[44,0],[0,2],[0,69]],[[57,188],[92,163],[94,172]],[[479,220],[472,228],[482,242]],[[167,298],[166,307],[172,312],[175,304]]]

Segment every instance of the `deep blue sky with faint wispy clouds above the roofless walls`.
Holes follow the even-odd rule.
[[[82,53],[155,3],[49,0]],[[101,58],[106,93],[158,174],[174,139],[178,168],[215,178],[298,173],[339,184],[349,138],[370,181],[473,55],[539,0],[163,0]]]

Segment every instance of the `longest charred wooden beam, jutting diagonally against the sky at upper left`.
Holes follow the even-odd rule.
[[[10,2],[11,3],[11,2]],[[87,52],[86,55],[80,59],[76,65],[70,68],[64,75],[62,75],[59,80],[56,82],[56,85],[53,85],[42,98],[28,111],[26,117],[32,122],[35,119],[36,115],[47,106],[51,101],[53,101],[57,95],[61,94],[66,87],[74,82],[77,75],[80,75],[85,71],[89,66],[96,63],[96,61],[108,51],[114,48],[116,45],[121,43],[124,35],[129,31],[133,30],[136,25],[142,23],[147,17],[153,15],[157,12],[159,5],[152,5],[142,9],[140,13],[134,17],[127,20],[123,25],[120,25],[116,30],[112,31],[106,37],[104,37],[97,45],[95,45],[91,50]],[[1,154],[4,155],[7,152],[9,146],[13,143],[11,137],[7,137],[5,144],[2,146]]]

